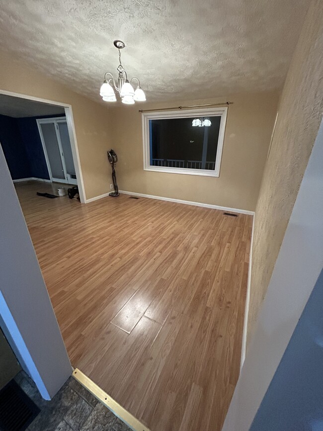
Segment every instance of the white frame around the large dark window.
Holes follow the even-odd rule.
[[[222,159],[222,150],[224,142],[224,134],[227,121],[227,107],[194,109],[194,110],[175,110],[167,112],[143,112],[142,127],[143,127],[143,149],[144,149],[144,171],[181,173],[185,175],[204,175],[204,176],[220,176],[220,167]],[[220,130],[218,139],[218,148],[216,154],[216,162],[214,170],[208,169],[188,169],[188,168],[169,168],[150,165],[150,133],[149,120],[162,120],[167,118],[190,118],[190,117],[210,117],[220,116]]]

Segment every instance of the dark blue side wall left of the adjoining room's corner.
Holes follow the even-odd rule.
[[[12,179],[33,176],[17,118],[0,115],[0,144]]]

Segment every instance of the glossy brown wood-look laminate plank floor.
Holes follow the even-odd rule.
[[[55,186],[54,186],[55,187]],[[220,431],[238,379],[252,217],[16,191],[71,362],[152,431]]]

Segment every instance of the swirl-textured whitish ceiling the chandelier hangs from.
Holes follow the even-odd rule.
[[[310,0],[0,0],[0,48],[94,100],[122,62],[147,99],[282,86]]]

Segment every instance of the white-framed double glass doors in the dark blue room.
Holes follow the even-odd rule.
[[[78,184],[66,117],[36,121],[51,180]]]

